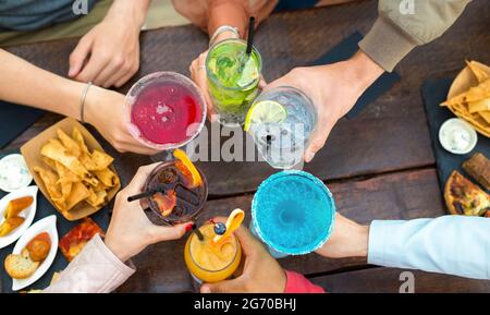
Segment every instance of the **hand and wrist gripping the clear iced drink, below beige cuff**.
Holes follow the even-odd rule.
[[[383,71],[367,54],[359,51],[347,61],[295,68],[271,82],[265,90],[278,86],[293,86],[311,98],[318,111],[318,125],[305,150],[305,161],[309,162],[324,146],[339,119],[348,112]]]

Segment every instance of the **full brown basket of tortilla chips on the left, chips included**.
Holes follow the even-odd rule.
[[[121,187],[113,158],[74,119],[45,130],[21,152],[42,194],[70,221],[96,213]]]

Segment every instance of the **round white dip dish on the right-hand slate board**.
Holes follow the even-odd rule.
[[[460,118],[452,118],[439,129],[439,142],[445,150],[465,155],[475,148],[478,135],[469,123]]]

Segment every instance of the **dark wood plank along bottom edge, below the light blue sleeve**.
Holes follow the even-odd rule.
[[[441,274],[393,268],[371,268],[336,275],[314,277],[310,280],[332,293],[399,293],[406,281],[401,274],[414,276],[414,293],[489,293],[490,281],[466,279]],[[402,288],[402,292],[406,292]]]

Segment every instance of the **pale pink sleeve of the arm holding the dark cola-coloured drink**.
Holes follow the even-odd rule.
[[[122,263],[95,235],[45,293],[108,293],[124,283],[135,269]]]

